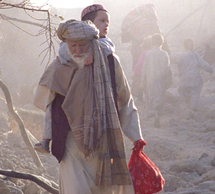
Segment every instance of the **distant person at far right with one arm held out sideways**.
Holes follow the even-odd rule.
[[[185,51],[176,61],[180,76],[178,92],[191,110],[197,110],[199,95],[203,87],[200,70],[213,73],[213,69],[199,54],[193,51],[194,42],[192,39],[185,39],[183,46]]]

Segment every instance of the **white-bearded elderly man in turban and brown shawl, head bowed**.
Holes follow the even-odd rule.
[[[122,131],[133,143],[143,138],[119,61],[114,57],[111,84],[99,31],[90,21],[69,20],[57,34],[67,44],[67,59],[58,56],[44,72],[35,105],[50,114],[45,126],[59,161],[60,194],[132,194]]]

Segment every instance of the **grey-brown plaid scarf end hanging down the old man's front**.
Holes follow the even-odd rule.
[[[98,41],[94,40],[95,100],[101,116],[98,135],[102,135],[96,184],[101,187],[127,185],[131,182],[125,160],[121,126],[108,75],[108,64],[101,56],[103,55]]]

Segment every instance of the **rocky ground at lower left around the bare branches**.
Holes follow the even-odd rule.
[[[41,176],[53,187],[58,183],[58,163],[50,154],[40,154],[43,167],[38,168],[21,136],[16,121],[8,112],[4,95],[0,96],[0,166],[1,170],[12,170],[25,174]],[[41,137],[43,114],[33,109],[18,110],[25,123],[32,144]],[[33,134],[33,135],[32,135]],[[47,194],[45,189],[30,180],[0,175],[1,194]]]

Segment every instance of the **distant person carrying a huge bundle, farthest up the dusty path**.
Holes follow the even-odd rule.
[[[146,3],[130,10],[122,21],[121,31],[122,43],[131,42],[133,70],[142,53],[143,38],[161,33],[154,4]],[[170,52],[166,41],[164,41],[162,47],[168,53]]]

